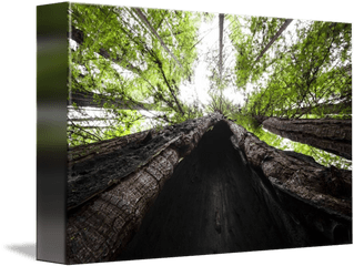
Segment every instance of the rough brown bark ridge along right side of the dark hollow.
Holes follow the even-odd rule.
[[[242,150],[247,163],[262,170],[273,186],[352,218],[353,171],[325,167],[310,156],[276,150],[242,126],[227,123],[235,134],[234,146]]]

